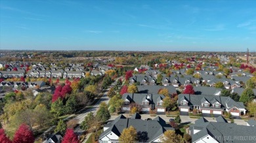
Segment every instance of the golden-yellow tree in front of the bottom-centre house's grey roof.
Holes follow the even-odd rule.
[[[123,129],[121,135],[119,136],[119,142],[121,143],[135,143],[137,138],[137,131],[133,126]]]

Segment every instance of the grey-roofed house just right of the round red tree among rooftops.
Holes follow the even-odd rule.
[[[195,95],[221,95],[223,89],[207,86],[194,86]]]

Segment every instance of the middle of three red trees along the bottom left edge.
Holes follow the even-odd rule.
[[[28,125],[22,124],[14,134],[13,143],[33,143],[35,138]]]

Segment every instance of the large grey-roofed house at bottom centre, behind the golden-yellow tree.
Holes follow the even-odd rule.
[[[140,119],[138,114],[134,114],[132,118],[120,115],[114,121],[104,125],[103,133],[99,136],[98,141],[100,143],[119,142],[118,139],[123,129],[130,126],[135,127],[138,142],[161,142],[165,131],[175,130],[160,117],[147,121]]]

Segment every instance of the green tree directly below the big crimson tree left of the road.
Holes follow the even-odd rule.
[[[64,105],[60,98],[51,104],[51,112],[54,114],[54,117],[59,117],[64,113]]]

